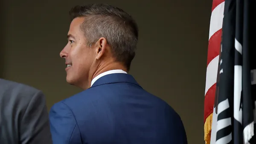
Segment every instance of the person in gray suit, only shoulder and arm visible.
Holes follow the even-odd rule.
[[[0,144],[52,144],[40,90],[0,79]]]

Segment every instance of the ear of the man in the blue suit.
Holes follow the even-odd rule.
[[[95,43],[96,46],[96,59],[99,60],[102,55],[104,55],[107,49],[107,40],[105,37],[99,38],[99,40]]]

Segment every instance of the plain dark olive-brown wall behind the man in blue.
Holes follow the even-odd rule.
[[[130,74],[180,114],[189,144],[204,144],[211,0],[4,0],[0,75],[41,89],[48,108],[80,92],[66,83],[59,52],[67,42],[68,11],[84,2],[113,4],[133,15],[140,37]]]

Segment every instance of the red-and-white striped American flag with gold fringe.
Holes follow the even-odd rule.
[[[224,0],[213,0],[212,2],[204,97],[204,140],[206,144],[210,144],[211,131],[215,130],[215,127],[212,127],[212,118],[216,118],[216,113],[214,112],[215,108],[213,105],[215,100],[219,53],[221,47],[224,3]],[[215,137],[214,133],[212,134],[212,137]]]

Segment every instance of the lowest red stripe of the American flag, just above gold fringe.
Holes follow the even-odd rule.
[[[209,90],[207,91],[205,98],[204,98],[204,123],[206,118],[212,113],[214,101],[215,101],[215,90],[216,90],[216,83],[213,84]]]

